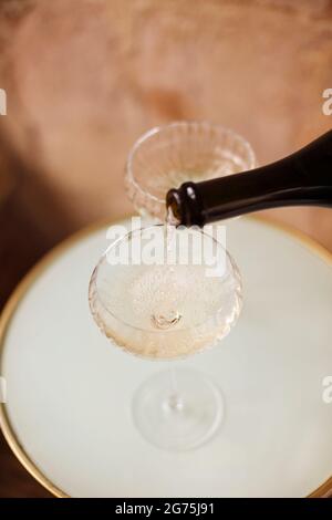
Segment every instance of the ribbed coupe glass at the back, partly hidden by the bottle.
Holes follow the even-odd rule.
[[[256,166],[250,144],[236,132],[208,122],[181,121],[153,128],[135,143],[125,183],[135,209],[164,221],[170,188]]]

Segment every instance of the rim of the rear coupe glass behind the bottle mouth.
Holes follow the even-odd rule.
[[[215,129],[218,129],[220,132],[224,132],[225,134],[228,134],[232,137],[235,137],[238,142],[240,142],[243,147],[247,149],[248,152],[248,155],[249,155],[249,169],[252,169],[255,168],[256,164],[257,164],[257,158],[256,158],[256,154],[253,152],[253,148],[252,146],[250,145],[250,143],[246,139],[246,137],[243,137],[241,134],[238,134],[236,131],[234,131],[232,128],[228,128],[227,126],[224,126],[221,124],[218,124],[218,123],[211,123],[207,119],[201,119],[201,121],[198,121],[198,119],[183,119],[183,121],[173,121],[172,123],[167,123],[165,125],[158,125],[158,126],[154,126],[153,128],[149,128],[147,132],[145,132],[144,134],[142,134],[134,143],[134,145],[132,146],[132,148],[129,149],[129,153],[128,153],[128,156],[127,156],[127,160],[126,160],[126,179],[127,181],[129,181],[137,191],[139,191],[144,197],[148,197],[151,200],[153,200],[154,202],[158,202],[158,204],[164,204],[165,200],[164,199],[159,199],[158,197],[156,197],[155,195],[153,195],[151,191],[144,189],[142,187],[142,185],[139,183],[137,183],[136,180],[136,177],[134,175],[134,159],[135,159],[135,155],[136,153],[138,152],[138,149],[141,148],[141,146],[146,143],[151,137],[153,137],[154,135],[156,134],[160,134],[163,133],[164,131],[166,131],[167,128],[175,128],[175,127],[184,127],[184,126],[206,126],[206,127],[209,127],[209,128],[215,128]]]

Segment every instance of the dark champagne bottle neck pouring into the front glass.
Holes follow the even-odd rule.
[[[178,223],[204,226],[282,206],[332,208],[332,131],[299,152],[259,168],[170,189],[166,206]]]

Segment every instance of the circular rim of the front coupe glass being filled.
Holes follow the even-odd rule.
[[[112,242],[107,249],[104,251],[104,253],[102,254],[102,257],[100,258],[97,264],[95,266],[93,272],[92,272],[92,275],[91,275],[91,279],[90,279],[90,283],[89,283],[89,302],[90,302],[90,309],[91,309],[91,312],[92,312],[92,315],[94,316],[95,312],[92,308],[92,304],[91,304],[91,293],[93,291],[93,289],[95,289],[95,293],[97,294],[97,300],[100,302],[100,304],[102,305],[102,308],[104,309],[104,311],[110,314],[114,320],[121,322],[122,324],[124,324],[125,326],[128,326],[133,330],[136,330],[136,331],[139,331],[139,332],[147,332],[149,334],[172,334],[172,333],[179,333],[179,332],[187,332],[187,331],[195,331],[196,329],[200,329],[201,326],[205,326],[206,324],[208,324],[210,321],[214,321],[216,319],[216,316],[218,315],[219,311],[221,308],[218,308],[218,310],[214,313],[214,315],[209,316],[205,322],[203,323],[198,323],[198,324],[195,324],[193,326],[186,326],[186,327],[183,327],[183,329],[169,329],[169,330],[152,330],[152,329],[147,329],[147,327],[144,327],[144,326],[137,326],[137,325],[133,325],[128,322],[126,322],[125,320],[123,320],[122,318],[118,318],[116,314],[114,314],[110,309],[107,309],[104,304],[104,302],[102,301],[102,299],[100,298],[98,295],[98,290],[97,290],[97,284],[96,284],[96,274],[97,274],[97,270],[98,268],[102,266],[102,263],[105,261],[106,257],[107,257],[107,253],[121,241],[123,240],[128,240],[129,237],[132,235],[134,235],[135,232],[139,232],[142,233],[143,231],[145,230],[148,230],[148,229],[152,229],[152,228],[165,228],[167,227],[167,225],[165,223],[154,223],[152,226],[147,226],[147,227],[144,227],[144,228],[137,228],[137,229],[133,229],[131,231],[128,231],[126,235],[124,235],[123,237],[120,237],[117,238],[116,240],[114,240],[114,242]],[[227,260],[229,261],[230,266],[231,266],[231,271],[232,272],[238,272],[239,273],[239,283],[240,283],[240,288],[242,290],[242,279],[241,279],[241,274],[240,274],[240,271],[239,271],[239,268],[236,263],[236,261],[234,260],[232,256],[228,252],[228,250],[222,246],[222,243],[220,243],[218,240],[215,239],[215,237],[211,237],[211,235],[203,231],[201,229],[197,229],[198,232],[200,232],[201,235],[204,235],[205,237],[208,237],[208,239],[211,239],[212,241],[215,241],[218,247],[220,247],[225,253],[226,253],[226,258]]]

